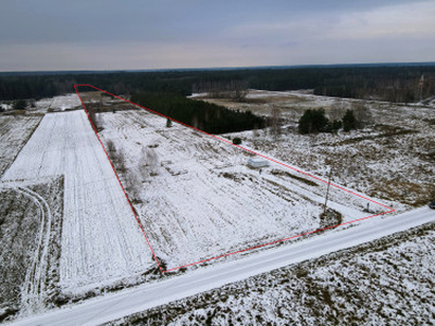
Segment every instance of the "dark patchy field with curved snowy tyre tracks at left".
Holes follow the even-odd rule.
[[[63,178],[0,184],[0,321],[53,306],[61,253]]]

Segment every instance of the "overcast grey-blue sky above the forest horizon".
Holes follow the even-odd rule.
[[[0,71],[435,61],[435,1],[0,0]]]

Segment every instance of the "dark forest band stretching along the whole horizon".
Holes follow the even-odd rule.
[[[424,75],[422,88],[419,80]],[[190,95],[240,87],[264,90],[314,89],[315,95],[417,102],[435,96],[435,65],[323,66],[92,74],[0,75],[0,100],[39,99],[90,84],[116,95],[140,91]],[[234,89],[233,89],[234,91]]]

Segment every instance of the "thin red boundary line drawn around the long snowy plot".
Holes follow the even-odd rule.
[[[130,202],[129,199],[128,199],[127,192],[125,191],[124,186],[122,185],[121,179],[120,179],[120,177],[119,177],[119,175],[117,175],[117,173],[116,173],[116,171],[115,171],[115,168],[114,168],[114,166],[113,166],[113,164],[112,164],[112,161],[110,160],[109,154],[108,154],[108,152],[107,152],[104,146],[102,145],[102,141],[101,141],[101,139],[100,139],[100,136],[99,136],[98,133],[97,133],[97,128],[96,128],[96,126],[94,125],[92,121],[90,120],[89,112],[88,112],[88,110],[86,109],[85,103],[83,102],[80,95],[78,93],[77,87],[90,87],[90,88],[94,88],[94,89],[96,89],[96,90],[105,92],[105,93],[108,93],[108,95],[110,95],[110,96],[112,96],[112,97],[115,97],[115,98],[117,98],[117,99],[120,99],[120,100],[123,100],[123,101],[125,101],[125,102],[128,102],[128,103],[130,103],[132,105],[138,106],[138,108],[144,109],[144,110],[146,110],[146,111],[148,111],[148,112],[151,112],[151,113],[153,113],[153,114],[157,114],[157,115],[160,115],[160,116],[162,116],[162,117],[169,118],[169,120],[171,120],[171,121],[173,121],[173,122],[175,122],[175,123],[177,123],[177,124],[181,124],[181,125],[183,125],[183,126],[186,126],[186,127],[188,127],[188,128],[191,128],[191,129],[194,129],[194,130],[196,130],[196,131],[198,131],[198,133],[204,134],[204,135],[207,135],[207,136],[213,137],[213,138],[217,139],[217,140],[224,141],[224,142],[226,142],[226,143],[228,143],[228,145],[238,147],[239,149],[241,149],[241,150],[244,150],[244,151],[246,151],[246,152],[249,152],[249,153],[256,154],[256,155],[258,155],[258,156],[260,156],[260,158],[263,158],[263,159],[265,159],[265,160],[272,161],[272,162],[274,162],[274,163],[276,163],[276,164],[279,164],[279,165],[282,165],[282,166],[285,166],[285,167],[287,167],[287,168],[290,168],[290,170],[293,170],[293,171],[296,171],[296,172],[298,172],[298,173],[300,173],[300,174],[303,174],[303,175],[306,175],[306,176],[309,176],[309,177],[311,177],[311,178],[314,178],[314,179],[316,179],[316,180],[319,180],[319,181],[322,181],[322,183],[324,183],[324,184],[330,184],[332,187],[335,187],[335,188],[340,189],[340,190],[343,190],[343,191],[346,191],[346,192],[348,192],[348,193],[350,193],[350,195],[353,195],[353,196],[360,197],[360,198],[362,198],[362,199],[364,199],[364,200],[368,200],[368,201],[370,201],[370,202],[373,202],[373,203],[375,203],[375,204],[377,204],[377,205],[383,206],[384,209],[387,209],[388,211],[383,212],[383,213],[378,213],[378,214],[374,214],[374,215],[370,215],[370,216],[365,216],[365,217],[361,217],[361,218],[358,218],[358,220],[353,220],[353,221],[340,223],[340,224],[337,224],[337,225],[328,226],[328,227],[325,227],[325,228],[315,229],[315,230],[308,231],[308,233],[304,233],[304,234],[300,234],[300,235],[297,235],[297,236],[291,236],[291,237],[288,237],[288,238],[284,238],[284,239],[271,241],[271,242],[268,242],[268,243],[262,243],[262,244],[259,244],[259,246],[254,246],[254,247],[250,247],[250,248],[246,248],[246,249],[241,249],[241,250],[237,250],[237,251],[224,253],[224,254],[221,254],[221,255],[212,256],[212,258],[209,258],[209,259],[204,259],[204,260],[201,260],[201,261],[197,261],[197,262],[194,262],[194,263],[189,263],[189,264],[185,264],[185,265],[182,265],[182,266],[178,266],[178,267],[174,267],[174,268],[170,268],[170,269],[163,271],[162,267],[161,267],[161,265],[160,265],[160,263],[159,263],[159,260],[158,260],[157,256],[156,256],[154,251],[152,250],[151,243],[150,243],[150,241],[148,240],[147,235],[145,234],[145,230],[144,230],[144,227],[142,227],[142,225],[141,225],[141,223],[140,223],[140,220],[139,220],[139,217],[137,216],[137,214],[136,214],[136,212],[135,212],[135,210],[134,210],[134,208],[133,208],[133,204],[132,204],[132,202]],[[115,96],[115,95],[113,95],[113,93],[110,93],[109,91],[105,91],[105,90],[100,89],[100,88],[98,88],[98,87],[95,87],[95,86],[92,86],[92,85],[89,85],[89,84],[77,84],[77,85],[74,85],[74,89],[75,89],[75,91],[76,91],[78,98],[80,99],[82,105],[83,105],[83,108],[85,109],[86,114],[88,115],[90,125],[91,125],[92,128],[94,128],[94,131],[95,131],[95,134],[96,134],[96,136],[97,136],[97,138],[98,138],[98,141],[100,142],[100,145],[101,145],[101,147],[102,147],[104,153],[105,153],[105,156],[107,156],[108,160],[109,160],[110,165],[112,166],[113,173],[115,174],[116,179],[117,179],[117,181],[120,183],[120,186],[121,186],[121,188],[122,188],[122,190],[123,190],[123,192],[124,192],[124,195],[125,195],[125,198],[126,198],[127,201],[128,201],[128,204],[129,204],[129,206],[130,206],[130,209],[132,209],[132,212],[133,212],[133,214],[135,215],[135,218],[136,218],[136,221],[137,221],[137,223],[138,223],[138,225],[139,225],[139,228],[140,228],[140,230],[142,231],[144,237],[145,237],[145,239],[147,240],[148,247],[150,248],[151,253],[152,253],[152,255],[153,255],[153,258],[154,258],[154,260],[156,260],[156,263],[157,263],[157,265],[159,266],[159,269],[160,269],[160,272],[162,272],[162,274],[167,273],[167,272],[172,272],[172,271],[176,271],[176,269],[179,269],[179,268],[184,268],[184,267],[188,267],[188,266],[201,264],[201,263],[209,262],[209,261],[212,261],[212,260],[216,260],[216,259],[220,259],[220,258],[224,258],[224,256],[237,254],[237,253],[240,253],[240,252],[245,252],[245,251],[249,251],[249,250],[253,250],[253,249],[258,249],[258,248],[262,248],[262,247],[266,247],[266,246],[271,246],[271,244],[284,242],[284,241],[287,241],[287,240],[290,240],[290,239],[295,239],[295,238],[308,236],[308,235],[315,234],[315,233],[320,233],[320,231],[323,231],[323,230],[326,230],[326,229],[336,228],[336,227],[338,227],[338,226],[343,226],[343,225],[351,224],[351,223],[355,223],[355,222],[359,222],[359,221],[363,221],[363,220],[368,220],[368,218],[372,218],[372,217],[375,217],[375,216],[380,216],[380,215],[389,214],[389,213],[395,212],[395,210],[394,210],[393,208],[389,208],[389,206],[387,206],[387,205],[385,205],[385,204],[382,204],[382,203],[380,203],[380,202],[377,202],[377,201],[374,201],[373,199],[366,198],[366,197],[364,197],[364,196],[362,196],[362,195],[360,195],[360,193],[356,193],[356,192],[353,192],[353,191],[351,191],[351,190],[349,190],[349,189],[343,188],[343,187],[340,187],[340,186],[338,186],[338,185],[335,185],[335,184],[333,184],[333,183],[328,183],[328,181],[326,181],[326,180],[323,180],[323,179],[321,179],[321,178],[319,178],[319,177],[316,177],[316,176],[314,176],[314,175],[311,175],[311,174],[309,174],[309,173],[307,173],[307,172],[300,171],[300,170],[298,170],[298,168],[296,168],[296,167],[289,166],[289,165],[287,165],[287,164],[285,164],[285,163],[282,163],[282,162],[278,162],[278,161],[276,161],[276,160],[270,159],[270,158],[268,158],[268,156],[265,156],[265,155],[263,155],[263,154],[257,153],[256,151],[252,151],[252,150],[250,150],[250,149],[244,148],[243,146],[234,145],[232,141],[229,141],[229,140],[225,139],[225,138],[221,138],[221,137],[219,137],[219,136],[215,136],[215,135],[206,133],[206,131],[203,131],[203,130],[200,130],[200,129],[198,129],[198,128],[195,128],[195,127],[192,127],[192,126],[186,125],[185,123],[182,123],[182,122],[179,122],[179,121],[176,121],[175,118],[172,118],[172,117],[170,117],[170,116],[166,116],[166,115],[164,115],[164,114],[161,114],[161,113],[159,113],[159,112],[156,112],[156,111],[153,111],[153,110],[150,110],[150,109],[148,109],[148,108],[141,106],[141,105],[137,104],[137,103],[130,102],[130,101],[128,101],[128,100],[126,100],[126,99],[123,99],[123,98],[121,98],[121,97],[119,97],[119,96]]]

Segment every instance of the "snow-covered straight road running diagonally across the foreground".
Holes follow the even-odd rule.
[[[264,250],[236,261],[199,268],[164,281],[141,285],[79,304],[52,310],[41,315],[17,321],[16,324],[95,325],[113,321],[263,272],[372,241],[424,223],[435,222],[435,211],[423,208],[400,215],[375,218],[377,217],[358,227],[336,229],[294,244]]]

